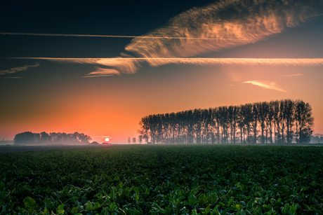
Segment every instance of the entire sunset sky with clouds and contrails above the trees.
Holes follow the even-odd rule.
[[[0,139],[126,143],[155,113],[303,99],[323,133],[323,1],[7,1]]]

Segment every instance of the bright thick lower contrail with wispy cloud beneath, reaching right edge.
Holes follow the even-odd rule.
[[[50,60],[61,63],[96,64],[111,67],[102,69],[96,67],[96,71],[88,74],[134,74],[141,67],[140,63],[148,62],[156,64],[192,64],[192,65],[267,65],[267,66],[319,66],[323,65],[323,58],[146,58],[146,57],[115,57],[115,58],[55,58],[55,57],[14,57],[14,59]]]

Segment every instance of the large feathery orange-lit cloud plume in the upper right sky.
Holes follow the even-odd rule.
[[[227,0],[192,8],[172,18],[169,23],[135,38],[126,50],[140,57],[192,57],[204,53],[256,43],[286,27],[296,27],[315,13],[317,1],[248,1]],[[202,38],[205,40],[169,40],[164,37]],[[218,38],[218,40],[213,40]],[[231,40],[223,40],[228,38]],[[207,40],[209,39],[209,40]],[[232,40],[235,39],[235,40]],[[153,66],[165,61],[148,61]]]

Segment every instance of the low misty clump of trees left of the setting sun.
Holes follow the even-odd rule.
[[[61,132],[22,132],[15,134],[13,139],[15,144],[88,144],[91,140],[86,134],[74,132],[73,134],[66,134]]]

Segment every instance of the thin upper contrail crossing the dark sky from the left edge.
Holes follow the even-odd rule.
[[[249,39],[239,38],[202,38],[202,37],[177,37],[177,36],[120,36],[120,35],[93,35],[93,34],[37,34],[19,32],[0,32],[2,35],[23,35],[23,36],[78,36],[78,37],[110,37],[110,38],[147,38],[147,39],[195,39],[195,40],[230,40],[247,41]]]

